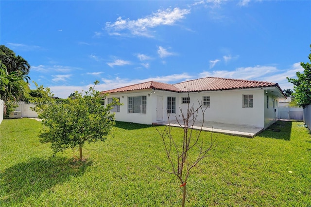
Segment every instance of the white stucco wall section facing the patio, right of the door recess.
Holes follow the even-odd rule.
[[[253,94],[253,108],[243,108],[243,95]],[[180,96],[185,97],[186,94]],[[186,95],[187,96],[187,95]],[[204,120],[229,124],[243,124],[263,127],[262,91],[255,89],[210,91],[190,94],[190,104],[197,108],[203,96],[210,97],[210,107],[205,111]],[[182,104],[186,111],[187,104]],[[202,120],[202,114],[199,120]]]

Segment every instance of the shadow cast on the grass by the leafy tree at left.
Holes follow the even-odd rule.
[[[92,161],[72,162],[65,157],[31,158],[0,173],[0,204],[17,205],[28,197],[81,176]]]

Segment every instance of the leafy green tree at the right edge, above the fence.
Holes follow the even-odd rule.
[[[311,53],[309,54],[309,60],[311,62]],[[301,62],[300,65],[304,69],[304,72],[296,72],[297,79],[287,77],[287,80],[294,84],[293,94],[297,104],[305,107],[311,104],[311,64]]]

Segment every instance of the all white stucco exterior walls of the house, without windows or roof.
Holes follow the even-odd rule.
[[[253,108],[242,107],[242,96],[246,94],[253,94]],[[127,97],[129,96],[147,96],[147,113],[127,113]],[[179,106],[182,107],[184,112],[187,112],[188,105],[181,104],[182,97],[187,97],[187,93],[175,93],[161,90],[153,91],[151,89],[139,92],[113,93],[106,97],[105,103],[107,103],[107,98],[120,98],[120,102],[123,103],[123,105],[120,106],[120,112],[115,112],[117,121],[152,124],[155,121],[159,121],[156,119],[156,102],[158,96],[163,97],[163,121],[168,120],[166,111],[167,97],[176,97],[176,113],[171,114],[170,119],[175,120],[176,117],[177,119],[182,119]],[[271,107],[266,109],[264,90],[259,88],[190,93],[190,105],[194,104],[194,107],[197,108],[199,104],[198,100],[201,103],[203,101],[203,96],[210,96],[210,107],[205,111],[205,121],[244,124],[262,128],[275,121],[273,99],[271,99],[271,103],[269,103]],[[275,104],[275,108],[277,108],[277,104]],[[198,120],[202,120],[202,114],[200,114],[198,118]]]

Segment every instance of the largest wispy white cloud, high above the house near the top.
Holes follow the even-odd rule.
[[[190,13],[190,9],[174,8],[158,10],[150,16],[138,18],[137,20],[122,19],[118,17],[114,23],[106,22],[105,29],[110,35],[122,35],[121,31],[129,31],[132,35],[152,37],[149,32],[150,28],[160,25],[173,25],[176,21]],[[126,35],[126,34],[125,34]]]

